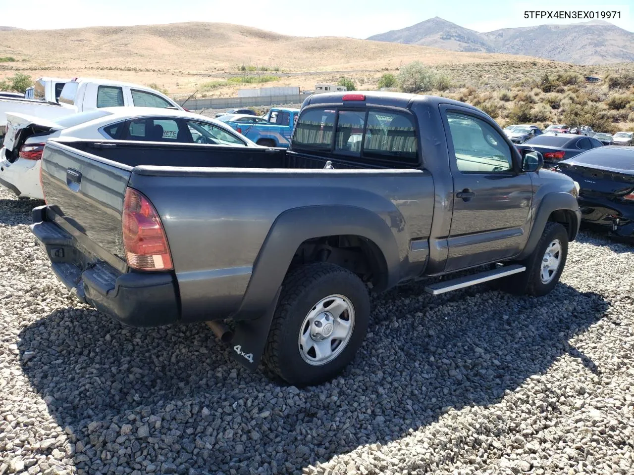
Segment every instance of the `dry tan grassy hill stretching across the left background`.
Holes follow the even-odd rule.
[[[18,60],[0,65],[0,79],[15,70],[33,77],[97,76],[155,82],[172,93],[193,91],[204,81],[226,79],[226,73],[236,73],[241,65],[287,73],[366,72],[394,70],[413,60],[430,65],[534,60],[342,37],[294,37],[227,23],[197,22],[1,31],[0,56]],[[319,75],[286,82],[313,87],[316,80]]]

